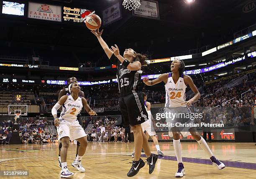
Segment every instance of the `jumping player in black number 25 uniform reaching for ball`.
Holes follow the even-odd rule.
[[[102,30],[103,31],[103,30]],[[131,125],[134,135],[134,161],[127,176],[138,173],[145,162],[140,158],[141,148],[144,149],[149,164],[149,174],[154,171],[157,155],[151,153],[148,140],[142,131],[141,123],[148,120],[148,113],[143,106],[144,101],[138,84],[141,82],[141,66],[146,65],[146,56],[137,54],[133,49],[125,49],[123,56],[119,54],[118,46],[108,48],[107,43],[101,38],[102,31],[92,31],[97,37],[110,61],[117,66],[118,88],[120,91],[119,105],[124,118],[124,125]]]

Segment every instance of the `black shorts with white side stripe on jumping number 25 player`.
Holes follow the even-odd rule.
[[[124,118],[124,126],[144,123],[148,120],[148,113],[144,106],[141,92],[133,92],[119,98],[120,111]]]

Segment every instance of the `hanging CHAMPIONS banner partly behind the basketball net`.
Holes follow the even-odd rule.
[[[159,10],[158,10],[158,2],[151,0],[140,0],[141,6],[133,10],[134,16],[151,18],[151,19],[159,19]]]

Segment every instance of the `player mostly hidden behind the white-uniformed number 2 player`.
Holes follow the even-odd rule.
[[[69,86],[69,84],[71,84],[71,83],[73,83],[73,82],[77,82],[77,79],[76,79],[75,77],[70,77],[69,79],[67,79],[67,86],[64,87],[62,90],[60,90],[60,92],[59,92],[59,97],[58,97],[58,101],[59,101],[59,99],[60,99],[62,96],[67,95],[67,93],[69,93],[69,88],[68,88],[68,86]],[[70,93],[69,93],[69,94],[70,94]],[[80,92],[79,92],[79,96],[84,97],[84,92],[80,91]],[[82,126],[82,128],[84,128],[83,123],[82,123],[81,114],[77,115],[77,120],[78,120],[79,124]],[[79,146],[80,146],[80,143],[77,141],[77,153],[78,153],[78,148],[79,148]],[[60,159],[61,147],[62,147],[62,144],[59,143],[59,167],[60,167],[60,168],[61,168],[61,159]],[[77,156],[77,154],[76,154],[76,156]],[[76,157],[75,157],[75,159],[76,159]],[[75,159],[74,159],[74,161],[75,161]],[[73,163],[74,163],[74,161],[73,161]]]

